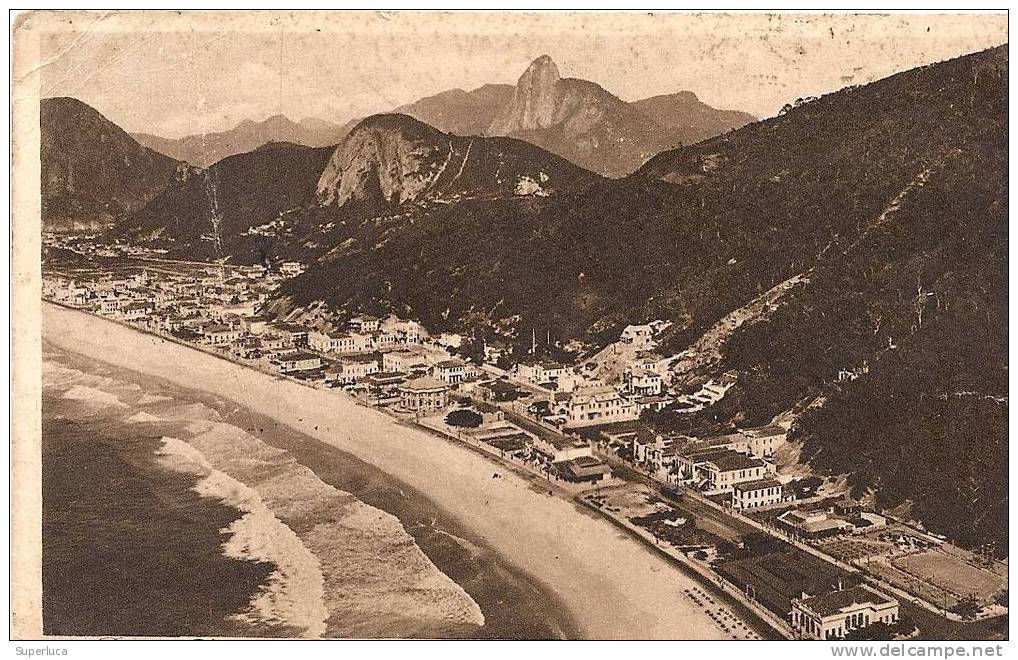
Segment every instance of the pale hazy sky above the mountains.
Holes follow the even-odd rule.
[[[274,114],[336,122],[515,82],[551,55],[626,101],[691,90],[757,116],[1007,41],[1005,14],[38,15],[42,96],[168,138]]]

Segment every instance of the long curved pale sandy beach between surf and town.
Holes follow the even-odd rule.
[[[585,639],[725,639],[695,583],[573,502],[466,448],[316,390],[84,313],[43,305],[53,345],[250,407],[419,491],[560,599]]]

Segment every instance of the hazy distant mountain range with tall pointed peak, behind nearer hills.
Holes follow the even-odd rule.
[[[548,55],[535,59],[516,85],[447,90],[399,106],[390,114],[405,114],[454,135],[517,138],[611,177],[633,172],[662,150],[755,120],[744,112],[712,108],[691,92],[626,103],[596,82],[561,77]],[[177,140],[149,133],[134,138],[167,156],[208,167],[267,142],[338,145],[359,121],[355,118],[340,125],[308,118],[294,123],[277,115]]]

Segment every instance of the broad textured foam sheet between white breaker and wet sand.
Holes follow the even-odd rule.
[[[319,559],[329,636],[413,637],[480,626],[480,608],[420,550],[396,516],[323,482],[292,455],[229,424],[188,442],[253,489]]]

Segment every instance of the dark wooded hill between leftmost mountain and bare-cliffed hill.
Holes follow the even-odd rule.
[[[332,152],[269,143],[229,156],[167,187],[133,213],[121,232],[186,259],[258,255],[276,240],[277,230],[285,232],[286,218],[314,206]]]

